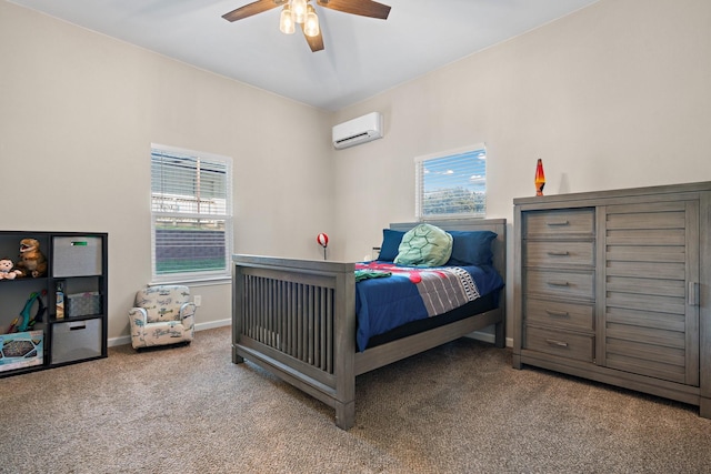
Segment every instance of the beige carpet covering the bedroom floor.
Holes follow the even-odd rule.
[[[357,381],[356,426],[257,366],[190,346],[0,380],[1,473],[708,473],[693,406],[459,340]]]

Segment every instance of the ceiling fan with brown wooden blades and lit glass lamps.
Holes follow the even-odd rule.
[[[319,28],[316,9],[309,2],[311,0],[257,0],[224,13],[222,18],[227,21],[237,21],[261,13],[272,8],[283,7],[281,11],[279,28],[283,33],[290,34],[296,30],[296,24],[301,24],[301,31],[311,48],[317,52],[323,49],[323,37]],[[344,13],[359,14],[361,17],[388,19],[390,7],[372,0],[314,0],[319,7]],[[296,24],[294,24],[296,23]]]

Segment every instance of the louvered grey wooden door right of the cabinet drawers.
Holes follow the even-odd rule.
[[[699,202],[608,205],[603,225],[598,363],[698,386]]]

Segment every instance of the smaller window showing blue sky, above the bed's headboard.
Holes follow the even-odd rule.
[[[481,216],[487,212],[484,144],[414,159],[420,220]]]

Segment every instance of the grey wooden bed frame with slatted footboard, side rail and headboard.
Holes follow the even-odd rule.
[[[505,219],[431,222],[444,230],[490,230],[493,264],[505,278]],[[409,230],[417,223],[391,224]],[[336,424],[356,421],[356,376],[495,325],[504,346],[505,297],[499,307],[358,352],[354,263],[233,255],[232,362],[244,359],[336,409]],[[502,290],[503,292],[503,290]]]

